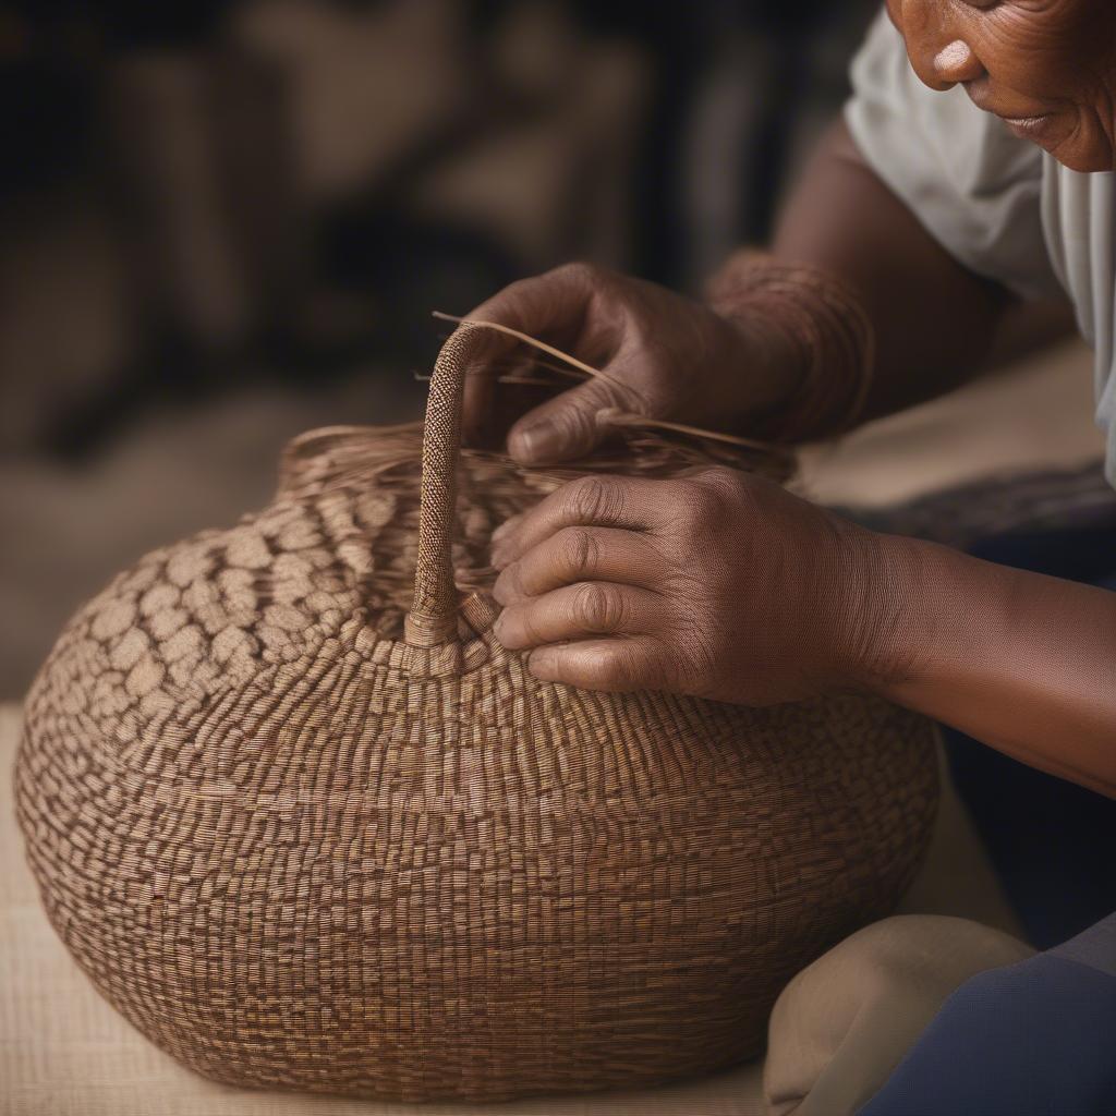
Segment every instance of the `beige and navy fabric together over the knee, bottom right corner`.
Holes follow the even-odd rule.
[[[1048,953],[977,922],[886,918],[771,1017],[769,1116],[1116,1112],[1116,915]]]

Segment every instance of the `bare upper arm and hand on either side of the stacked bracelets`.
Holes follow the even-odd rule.
[[[877,359],[862,417],[940,395],[985,368],[998,336],[1020,309],[923,229],[867,166],[841,123],[791,196],[773,253],[833,272],[863,301]],[[612,406],[762,433],[766,422],[800,402],[805,376],[801,350],[788,344],[770,309],[757,308],[745,295],[713,312],[662,287],[584,263],[512,283],[471,316],[567,348],[608,378],[541,406],[517,405],[511,392],[496,389],[508,343],[493,335],[491,352],[466,384],[466,434],[474,442],[507,435],[517,459],[541,464],[591,450],[603,434],[595,416]],[[1028,327],[1037,317],[1028,307]],[[833,429],[843,419],[834,416]],[[828,429],[822,414],[812,433]]]

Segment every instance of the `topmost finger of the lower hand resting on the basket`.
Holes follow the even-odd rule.
[[[570,481],[493,533],[492,565],[502,570],[566,527],[654,529],[671,514],[667,484],[635,477],[581,477]]]

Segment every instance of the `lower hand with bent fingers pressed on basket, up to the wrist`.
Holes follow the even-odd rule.
[[[730,469],[585,477],[493,536],[496,634],[539,679],[768,705],[866,684],[883,537]]]

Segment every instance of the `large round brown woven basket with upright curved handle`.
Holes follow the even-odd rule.
[[[561,478],[455,468],[473,336],[439,360],[422,485],[416,425],[305,435],[268,508],[117,577],[29,696],[50,920],[209,1077],[491,1100],[713,1070],[924,850],[907,712],[590,693],[494,641],[490,531]],[[687,466],[655,452],[614,465]]]

